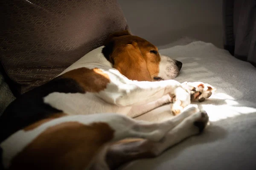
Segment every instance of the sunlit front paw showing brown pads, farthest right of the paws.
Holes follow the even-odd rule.
[[[182,86],[190,91],[191,101],[203,102],[216,91],[212,85],[203,82],[183,82]]]

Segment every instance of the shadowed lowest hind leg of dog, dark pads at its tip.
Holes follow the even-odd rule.
[[[207,125],[208,119],[204,111],[195,113],[170,130],[160,142],[130,139],[112,144],[106,158],[108,165],[115,169],[129,161],[156,157],[183,139],[200,133]]]

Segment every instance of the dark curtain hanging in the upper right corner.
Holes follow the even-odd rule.
[[[256,0],[223,0],[224,49],[256,66]]]

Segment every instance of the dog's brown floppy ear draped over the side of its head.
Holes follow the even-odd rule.
[[[136,42],[121,45],[110,56],[113,68],[131,80],[151,81],[147,63]]]

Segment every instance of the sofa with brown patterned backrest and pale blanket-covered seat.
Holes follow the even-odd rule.
[[[16,97],[103,45],[109,34],[129,30],[116,0],[3,0],[0,8],[0,114]],[[155,159],[119,169],[255,169],[256,68],[233,57],[230,49],[190,37],[158,48],[183,62],[177,81],[202,81],[217,88],[208,100],[193,103],[207,111],[210,125]],[[135,119],[171,118],[169,105],[164,105]]]

